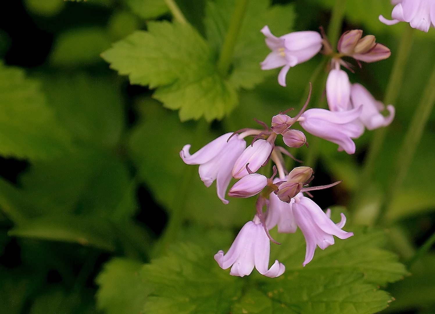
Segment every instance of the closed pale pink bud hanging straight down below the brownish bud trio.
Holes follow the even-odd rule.
[[[351,109],[351,82],[348,74],[340,68],[332,69],[328,74],[326,99],[331,111]]]

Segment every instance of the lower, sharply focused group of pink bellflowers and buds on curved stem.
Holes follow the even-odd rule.
[[[282,112],[275,115],[270,128],[260,122],[264,126],[263,130],[245,128],[216,138],[193,155],[189,153],[190,145],[185,145],[180,152],[185,163],[200,165],[198,172],[207,187],[216,179],[218,197],[223,203],[228,203],[224,196],[231,178],[238,181],[229,189],[228,196],[247,198],[258,195],[254,219],[243,226],[226,254],[219,251],[214,256],[223,269],[232,266],[231,275],[248,275],[254,267],[268,277],[278,277],[284,273],[285,267],[278,260],[268,269],[270,241],[277,243],[269,235],[269,230],[274,226],[278,226],[278,232],[281,233],[294,233],[299,226],[307,243],[304,266],[313,258],[316,246],[325,249],[334,244],[332,235],[341,239],[352,236],[352,233],[341,230],[345,224],[344,216],[340,223],[333,223],[329,212],[324,213],[303,194],[311,196],[309,191],[329,188],[339,182],[328,186],[308,186],[313,179],[313,169],[296,167],[288,172],[283,155],[294,157],[284,147],[274,144],[281,134],[288,147],[307,145],[305,134],[291,127],[301,121],[307,112],[305,109],[309,98],[295,117],[291,118]],[[309,117],[302,120],[316,123],[310,122]],[[248,147],[244,141],[247,136],[254,136]],[[269,161],[274,163],[271,178],[257,173]],[[275,178],[277,173],[279,176]]]

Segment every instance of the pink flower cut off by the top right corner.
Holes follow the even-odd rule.
[[[435,1],[433,0],[393,0],[395,4],[391,17],[393,20],[387,20],[379,15],[379,20],[387,25],[393,25],[398,22],[408,22],[413,28],[418,28],[428,32],[429,28],[435,25]]]

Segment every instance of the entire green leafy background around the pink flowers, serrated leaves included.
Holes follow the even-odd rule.
[[[314,159],[292,151],[315,161],[329,180],[321,183],[343,180],[328,197],[348,208],[332,208],[333,219],[345,211],[345,230],[355,233],[316,250],[306,267],[301,232],[272,230],[282,244],[272,244],[271,260],[284,263],[284,275],[254,270],[239,278],[221,270],[213,254],[228,250],[252,219],[254,200],[223,205],[179,158],[187,143],[196,151],[305,101],[321,57],[291,68],[288,87],[279,86],[278,71],[259,67],[269,51],[264,25],[278,36],[318,30],[339,9],[343,30],[360,28],[391,48],[388,60],[350,74],[382,99],[406,26],[378,21],[390,16],[389,0],[341,2],[250,0],[222,76],[216,63],[236,1],[177,0],[183,24],[165,0],[24,0],[26,14],[54,41],[42,64],[17,66],[7,62],[13,40],[0,29],[0,313],[434,313],[434,250],[410,269],[404,263],[435,230],[435,113],[384,221],[373,223],[435,66],[434,29],[415,33],[395,120],[358,203],[352,199],[373,132],[356,140],[355,155],[313,138]],[[95,16],[82,20],[84,12]],[[327,72],[319,73],[313,107],[325,105]],[[25,169],[16,180],[3,175],[17,161]],[[156,234],[160,209],[169,220]]]

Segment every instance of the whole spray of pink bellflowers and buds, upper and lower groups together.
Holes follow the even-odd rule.
[[[293,128],[298,122],[312,135],[338,144],[339,151],[353,154],[355,143],[352,138],[358,138],[365,128],[372,130],[388,125],[394,116],[391,105],[387,107],[390,112],[388,117],[381,115],[384,105],[361,84],[351,84],[348,74],[341,70],[341,66],[351,69],[343,57],[351,57],[358,64],[360,61],[374,62],[387,58],[389,49],[376,43],[375,37],[362,37],[361,30],[348,31],[341,36],[338,53],[334,54],[325,36],[322,38],[317,32],[294,32],[275,37],[267,26],[261,32],[272,50],[261,63],[261,68],[283,67],[278,75],[278,82],[283,86],[290,67],[307,61],[324,47],[324,53],[331,56],[326,83],[329,110],[306,110],[311,96],[310,83],[308,99],[294,117],[280,112],[271,118],[270,127],[260,122],[263,129],[244,128],[226,133],[192,155],[189,153],[190,145],[181,150],[180,156],[185,163],[199,165],[199,176],[207,187],[216,180],[217,194],[224,204],[228,203],[225,194],[233,178],[238,181],[231,186],[228,196],[258,196],[252,221],[241,228],[227,253],[220,250],[214,255],[221,268],[231,267],[230,274],[241,277],[250,274],[254,267],[267,277],[278,277],[284,273],[285,267],[278,260],[268,268],[270,242],[277,243],[271,238],[269,230],[275,226],[278,233],[294,233],[297,228],[301,230],[306,241],[303,266],[313,259],[317,246],[324,250],[334,244],[334,236],[346,239],[353,235],[342,230],[346,223],[343,214],[341,221],[334,223],[331,211],[324,212],[310,198],[310,191],[329,188],[340,182],[310,187],[314,178],[313,169],[304,166],[290,172],[285,169],[284,155],[294,157],[285,147],[275,145],[277,137],[281,135],[284,144],[291,148],[308,147],[304,132]],[[244,139],[248,136],[254,138],[247,146]],[[270,178],[257,172],[269,162],[274,164]]]

